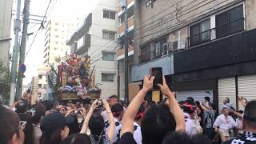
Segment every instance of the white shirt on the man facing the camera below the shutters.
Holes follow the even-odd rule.
[[[236,124],[234,122],[234,118],[232,118],[230,115],[225,117],[224,114],[221,114],[214,122],[214,127],[219,127],[222,130],[230,130],[235,126]]]

